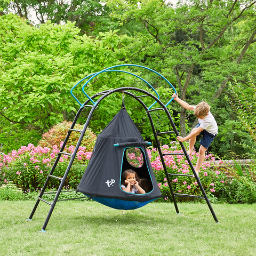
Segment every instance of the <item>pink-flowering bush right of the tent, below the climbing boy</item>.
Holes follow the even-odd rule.
[[[183,153],[180,144],[173,141],[171,142],[171,147],[164,145],[161,148],[162,153]],[[166,195],[165,200],[170,198],[170,188],[167,183],[167,177],[163,169],[161,158],[158,154],[157,149],[148,149],[148,155],[151,159],[151,166],[153,167],[156,180],[158,182],[158,187],[162,194]],[[190,156],[191,163],[193,166],[196,165],[198,153],[195,151]],[[172,174],[189,174],[193,175],[192,170],[188,164],[188,161],[183,155],[169,155],[164,156],[165,165],[168,173]],[[211,162],[215,161],[212,154],[205,155],[205,162],[201,166],[201,172],[199,172],[199,178],[203,185],[206,195],[216,201],[217,198],[226,196],[225,185],[228,182],[227,177],[223,170],[214,170],[211,168]],[[183,177],[170,175],[170,181],[174,193],[179,194],[189,194],[196,196],[203,196],[201,189],[195,178],[193,177]],[[188,200],[189,197],[178,197],[180,201]]]

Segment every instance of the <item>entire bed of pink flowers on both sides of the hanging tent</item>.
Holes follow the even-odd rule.
[[[29,144],[27,147],[23,146],[19,150],[13,150],[8,155],[0,155],[0,186],[8,182],[13,182],[23,191],[34,191],[41,189],[50,172],[52,165],[57,157],[57,154],[62,146],[54,145],[53,147],[35,147]],[[65,148],[67,153],[73,153],[75,147],[70,145]],[[171,142],[171,146],[162,146],[163,153],[183,153],[179,143]],[[162,194],[165,195],[164,200],[170,201],[170,188],[167,182],[166,174],[163,170],[163,165],[156,148],[147,149],[148,156],[153,167],[158,187]],[[68,175],[65,186],[76,189],[77,184],[82,178],[84,170],[86,169],[91,152],[86,151],[86,147],[79,147],[76,155],[76,161],[73,163]],[[143,164],[143,157],[138,148],[126,151],[126,157],[133,166],[141,166]],[[193,175],[188,161],[183,155],[169,155],[164,156],[165,164],[168,173],[172,174],[190,174]],[[194,151],[190,156],[193,165],[196,164],[197,153]],[[223,170],[214,170],[211,167],[211,162],[215,158],[211,154],[206,154],[205,162],[199,172],[199,178],[204,187],[207,196],[211,200],[217,200],[227,196],[226,185],[228,183],[227,177]],[[62,155],[60,161],[53,172],[57,177],[63,177],[69,163],[69,156]],[[198,183],[193,177],[183,176],[169,176],[174,193],[189,194],[203,196]],[[56,188],[60,181],[57,179],[50,179],[49,187]],[[189,197],[177,197],[180,201],[189,199]]]

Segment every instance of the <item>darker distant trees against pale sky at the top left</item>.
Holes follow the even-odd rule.
[[[109,28],[115,29],[117,26],[117,23],[109,18],[108,6],[100,0],[18,0],[5,3],[3,6],[5,13],[11,11],[37,25],[47,21],[55,24],[71,21],[81,29],[82,34],[91,35],[99,29],[108,31]]]

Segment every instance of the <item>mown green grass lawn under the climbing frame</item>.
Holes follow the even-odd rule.
[[[0,255],[256,255],[256,204],[150,203],[121,211],[96,202],[58,202],[41,230],[49,205],[0,201]]]

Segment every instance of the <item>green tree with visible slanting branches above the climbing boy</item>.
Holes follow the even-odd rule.
[[[115,18],[140,24],[127,58],[161,70],[181,99],[197,103],[201,94],[216,102],[227,81],[242,76],[245,52],[255,42],[255,1],[179,1],[175,9],[158,0],[140,1],[139,8],[137,2],[109,2]],[[181,109],[183,135],[185,120]]]

